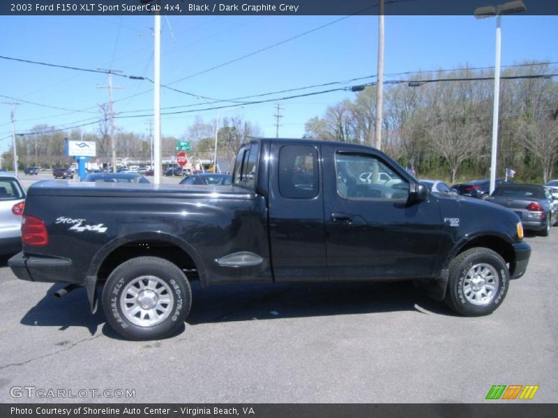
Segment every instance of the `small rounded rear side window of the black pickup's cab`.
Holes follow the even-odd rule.
[[[279,153],[279,192],[290,199],[318,195],[318,153],[309,145],[286,145]]]

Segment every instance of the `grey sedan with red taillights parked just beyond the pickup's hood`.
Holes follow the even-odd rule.
[[[502,185],[487,201],[510,208],[521,219],[524,229],[548,236],[558,223],[558,201],[541,185]]]

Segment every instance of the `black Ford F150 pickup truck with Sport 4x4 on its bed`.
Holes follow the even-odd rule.
[[[354,144],[250,139],[232,186],[29,188],[20,279],[84,286],[128,339],[178,330],[202,286],[418,279],[465,316],[490,314],[531,248],[514,212],[430,193],[384,153]]]

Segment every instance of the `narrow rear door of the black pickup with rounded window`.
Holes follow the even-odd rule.
[[[324,281],[326,240],[319,148],[272,142],[269,234],[276,281]]]

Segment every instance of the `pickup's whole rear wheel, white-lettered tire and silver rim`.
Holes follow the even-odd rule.
[[[188,316],[192,292],[186,275],[163,258],[137,257],[110,274],[103,311],[111,327],[126,339],[162,339]]]

